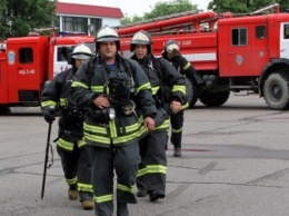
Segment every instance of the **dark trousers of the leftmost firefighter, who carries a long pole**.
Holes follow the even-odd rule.
[[[79,200],[92,200],[93,192],[91,184],[91,161],[89,158],[89,146],[81,148],[74,143],[72,151],[64,150],[57,146],[66,180],[69,186],[77,185]]]

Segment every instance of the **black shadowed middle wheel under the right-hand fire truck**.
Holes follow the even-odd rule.
[[[199,97],[200,101],[208,107],[219,107],[227,102],[230,91],[209,92],[203,90]]]

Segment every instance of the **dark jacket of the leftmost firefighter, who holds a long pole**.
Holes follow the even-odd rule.
[[[59,137],[57,145],[66,150],[73,149],[73,143],[78,141],[78,147],[86,145],[79,141],[83,136],[83,112],[77,109],[68,100],[72,77],[76,68],[58,73],[44,88],[42,92],[42,109],[58,108],[61,112],[59,118]]]

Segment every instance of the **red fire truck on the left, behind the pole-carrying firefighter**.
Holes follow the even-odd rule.
[[[46,29],[47,30],[47,29]],[[9,107],[40,105],[43,85],[70,67],[63,48],[86,43],[91,49],[94,38],[70,32],[66,36],[8,38],[0,43],[0,112]]]

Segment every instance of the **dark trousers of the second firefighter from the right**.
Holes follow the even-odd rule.
[[[153,130],[139,141],[141,157],[137,178],[139,190],[166,194],[167,143],[167,129]]]

